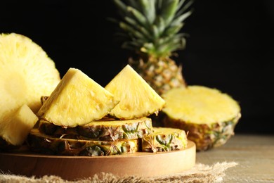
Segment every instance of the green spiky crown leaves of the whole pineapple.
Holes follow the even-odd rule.
[[[119,18],[111,20],[119,25],[116,36],[122,48],[138,55],[160,58],[176,50],[185,49],[185,37],[180,33],[193,0],[113,0]]]

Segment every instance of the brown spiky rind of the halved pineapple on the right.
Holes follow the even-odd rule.
[[[235,126],[240,119],[240,113],[236,118],[226,122],[216,122],[210,126],[207,124],[196,124],[175,120],[164,115],[162,122],[164,127],[174,127],[188,132],[188,139],[194,141],[197,151],[207,151],[226,144],[233,137]]]

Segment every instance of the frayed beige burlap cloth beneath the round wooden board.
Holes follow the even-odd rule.
[[[152,182],[223,182],[223,177],[226,176],[225,170],[232,168],[237,163],[235,162],[222,162],[215,163],[214,165],[204,165],[196,163],[196,165],[185,172],[176,173],[173,175],[165,175],[160,177],[117,177],[109,173],[101,173],[100,175],[94,175],[86,179],[77,179],[74,181],[67,181],[57,176],[44,176],[44,177],[24,177],[18,175],[4,175],[0,174],[0,182],[11,183],[32,183],[32,182],[110,182],[110,183],[122,183],[122,182],[138,182],[138,183],[152,183]]]

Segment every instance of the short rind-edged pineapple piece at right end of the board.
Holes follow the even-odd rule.
[[[174,151],[184,149],[188,139],[184,130],[168,127],[154,127],[153,133],[142,138],[142,151]]]

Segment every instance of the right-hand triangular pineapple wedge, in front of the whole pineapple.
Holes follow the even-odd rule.
[[[165,104],[164,99],[130,65],[126,65],[105,89],[120,101],[110,115],[122,120],[157,114]]]

